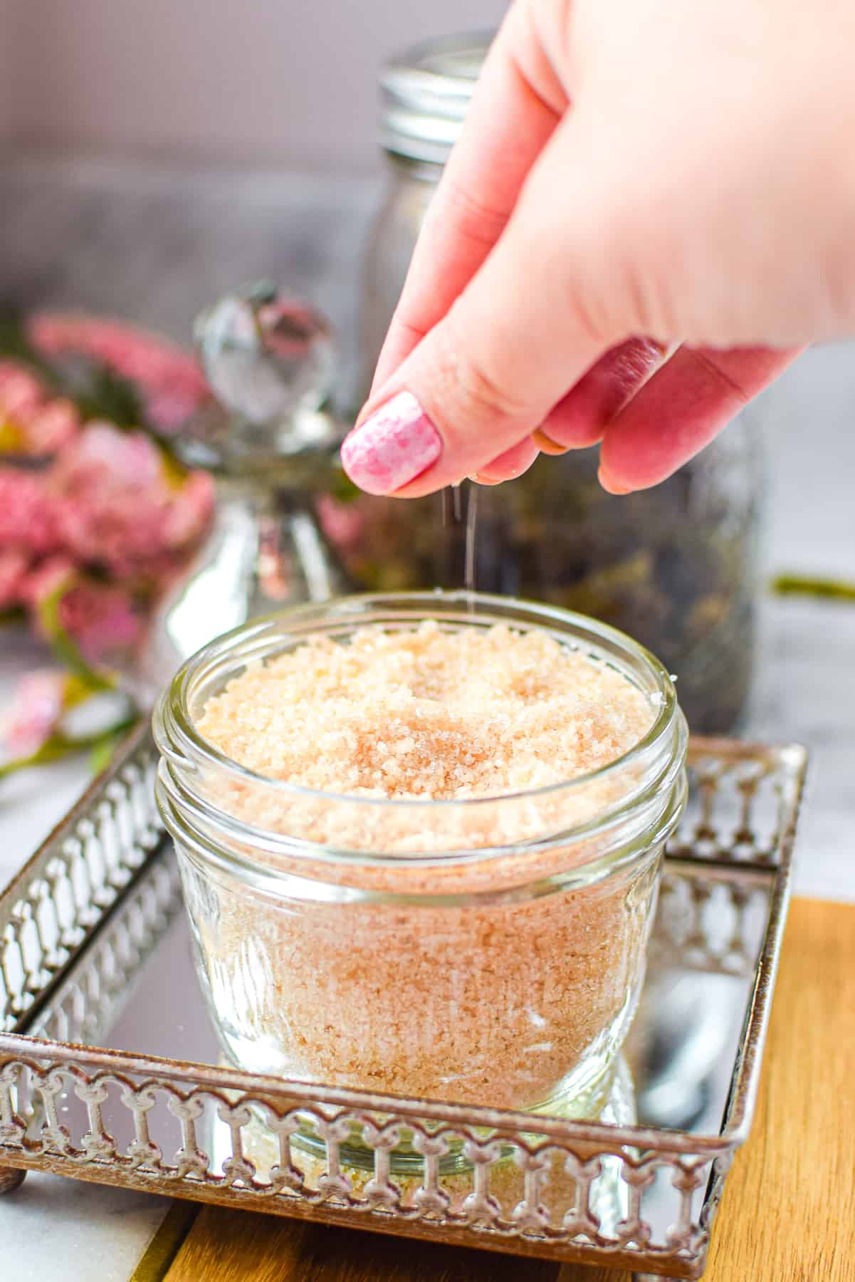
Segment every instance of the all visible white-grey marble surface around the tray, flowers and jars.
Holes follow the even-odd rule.
[[[24,165],[4,176],[0,292],[114,309],[186,335],[223,288],[270,274],[309,292],[353,355],[355,265],[370,185],[288,176],[182,179]],[[855,349],[808,354],[760,405],[769,446],[765,567],[855,578]],[[24,662],[0,635],[0,700]],[[855,899],[855,608],[767,600],[745,733],[813,754],[796,890]],[[0,882],[87,778],[85,763],[0,791]],[[29,1176],[0,1199],[1,1277],[123,1282],[163,1200]]]

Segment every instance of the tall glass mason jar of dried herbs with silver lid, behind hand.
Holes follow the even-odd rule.
[[[452,37],[395,59],[382,85],[390,160],[364,278],[367,391],[422,219],[459,133],[487,36]],[[697,733],[727,733],[743,710],[754,653],[756,424],[742,414],[656,488],[615,499],[596,450],[538,459],[478,494],[474,586],[595,614],[637,637],[679,678]],[[319,519],[356,590],[456,587],[465,520],[441,497],[324,497]]]

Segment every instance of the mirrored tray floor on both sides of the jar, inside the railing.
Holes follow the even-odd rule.
[[[765,872],[723,873],[668,862],[647,977],[626,1047],[640,1122],[683,1128],[691,1123],[699,1133],[720,1124],[769,888]],[[51,1041],[218,1061],[169,846],[154,858],[28,1032]]]

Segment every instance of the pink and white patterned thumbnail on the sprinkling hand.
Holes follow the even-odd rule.
[[[440,458],[442,437],[411,392],[399,392],[341,446],[345,472],[368,494],[394,494]]]

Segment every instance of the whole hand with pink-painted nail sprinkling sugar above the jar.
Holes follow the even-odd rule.
[[[613,492],[855,329],[855,4],[517,0],[342,447],[410,497],[600,441]]]

